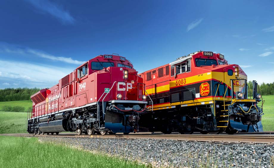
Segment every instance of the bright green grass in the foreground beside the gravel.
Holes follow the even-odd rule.
[[[135,162],[93,154],[61,144],[40,143],[37,138],[0,136],[0,167],[145,168]]]

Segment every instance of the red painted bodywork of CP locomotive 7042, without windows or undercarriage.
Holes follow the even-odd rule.
[[[92,65],[98,62],[106,63],[106,67],[96,70],[94,68],[96,66]],[[110,63],[113,63],[112,67],[108,66]],[[84,69],[85,65],[88,67],[87,74],[81,75],[79,71],[81,68]],[[128,67],[120,67],[124,65]],[[128,70],[128,79],[123,77],[124,70]],[[114,82],[116,83],[113,85]],[[110,89],[112,85],[113,89],[105,97],[105,102],[110,100],[142,101],[144,86],[141,83],[143,79],[137,75],[130,61],[117,55],[99,55],[60,79],[58,84],[32,95],[33,110],[30,118],[95,103],[105,92],[105,88]],[[117,94],[122,94],[122,99],[118,99]],[[102,99],[99,101],[102,102]]]

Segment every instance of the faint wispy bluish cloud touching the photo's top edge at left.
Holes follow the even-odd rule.
[[[58,6],[53,1],[49,0],[26,0],[32,4],[38,10],[48,13],[55,18],[61,20],[63,23],[73,24],[75,19],[70,15],[68,11],[65,11],[63,7]],[[42,13],[44,14],[44,13]]]

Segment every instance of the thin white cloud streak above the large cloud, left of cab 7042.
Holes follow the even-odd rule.
[[[50,59],[50,60],[63,61],[63,62],[66,62],[66,63],[73,63],[73,64],[83,64],[83,63],[85,63],[85,61],[73,60],[73,59],[67,58],[67,57],[56,57],[54,55],[45,54],[43,52],[39,52],[39,51],[36,51],[36,50],[33,50],[33,49],[28,49],[27,52],[32,53],[34,55],[37,55],[39,57]]]

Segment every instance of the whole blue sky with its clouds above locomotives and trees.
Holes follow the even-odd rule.
[[[0,88],[48,88],[119,53],[146,71],[198,50],[274,82],[274,1],[0,2]]]

